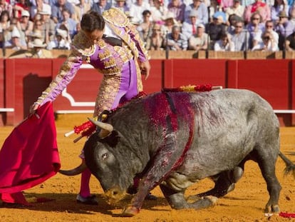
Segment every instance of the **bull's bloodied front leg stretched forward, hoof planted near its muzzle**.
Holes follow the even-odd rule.
[[[175,133],[170,133],[165,136],[165,142],[163,146],[158,148],[157,153],[151,160],[151,166],[145,173],[145,176],[141,179],[138,186],[138,193],[135,194],[131,201],[131,205],[122,213],[122,216],[134,216],[139,213],[140,208],[143,206],[145,196],[159,185],[167,176],[169,176],[175,163],[179,161],[182,156],[183,150],[177,148],[177,141]]]

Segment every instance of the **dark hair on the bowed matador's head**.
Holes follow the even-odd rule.
[[[81,29],[88,32],[92,32],[95,29],[103,31],[105,29],[105,20],[96,11],[88,11],[82,16]]]

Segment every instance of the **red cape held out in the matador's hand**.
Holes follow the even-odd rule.
[[[61,168],[51,103],[26,118],[0,151],[0,193],[16,193],[46,181]]]

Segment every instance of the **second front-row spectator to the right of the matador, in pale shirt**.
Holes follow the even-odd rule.
[[[180,26],[173,26],[172,32],[167,34],[167,41],[164,41],[164,47],[172,51],[186,51],[187,38],[181,33]]]

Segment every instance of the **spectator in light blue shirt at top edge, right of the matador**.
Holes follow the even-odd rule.
[[[197,19],[201,21],[202,24],[207,24],[209,22],[209,14],[207,6],[202,0],[193,0],[192,4],[185,7],[185,21],[190,21],[190,11],[197,11]]]

